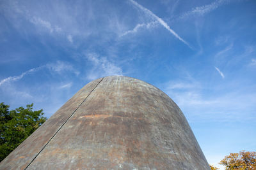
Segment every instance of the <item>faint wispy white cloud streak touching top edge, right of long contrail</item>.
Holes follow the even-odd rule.
[[[186,18],[191,15],[204,15],[205,13],[209,13],[210,11],[216,10],[216,8],[219,8],[221,5],[230,3],[230,0],[218,0],[214,1],[211,4],[206,4],[204,6],[197,6],[193,8],[191,11],[188,11],[181,15],[179,18]]]

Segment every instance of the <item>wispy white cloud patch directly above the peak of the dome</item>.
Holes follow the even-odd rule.
[[[94,80],[102,76],[123,75],[121,67],[116,66],[114,62],[109,61],[106,57],[100,57],[96,53],[86,54],[86,59],[92,62],[93,67],[88,74],[89,80]]]

